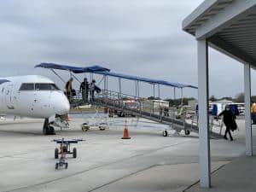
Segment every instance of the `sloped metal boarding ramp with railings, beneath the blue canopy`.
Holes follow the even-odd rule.
[[[123,101],[128,99],[137,102],[137,106],[126,106]],[[184,130],[186,135],[189,135],[190,131],[196,133],[199,132],[197,121],[196,123],[194,120],[192,120],[191,123],[186,122],[186,114],[183,114],[183,117],[180,119],[176,119],[173,111],[169,113],[171,115],[164,116],[164,113],[160,113],[160,109],[154,109],[154,103],[148,104],[147,100],[136,96],[120,94],[119,92],[110,90],[102,90],[101,93],[96,94],[95,98],[91,101],[91,104],[111,108],[113,110],[120,110],[123,113],[129,113],[131,115],[159,122],[164,125],[170,125],[170,127],[177,132]],[[222,137],[220,133],[213,132],[212,128],[210,129],[210,133],[211,138]]]

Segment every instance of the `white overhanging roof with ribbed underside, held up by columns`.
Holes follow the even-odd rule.
[[[256,68],[256,0],[206,0],[183,20],[183,30]]]

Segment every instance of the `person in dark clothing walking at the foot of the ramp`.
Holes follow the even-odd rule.
[[[225,135],[224,135],[224,139],[228,139],[227,138],[227,133],[229,133],[230,135],[230,141],[233,141],[233,137],[231,136],[231,131],[236,130],[237,125],[236,125],[236,115],[234,115],[231,110],[230,110],[230,106],[226,105],[225,109],[223,112],[218,114],[218,117],[223,115],[223,121],[224,121],[224,125],[226,126],[226,131],[225,131]]]

